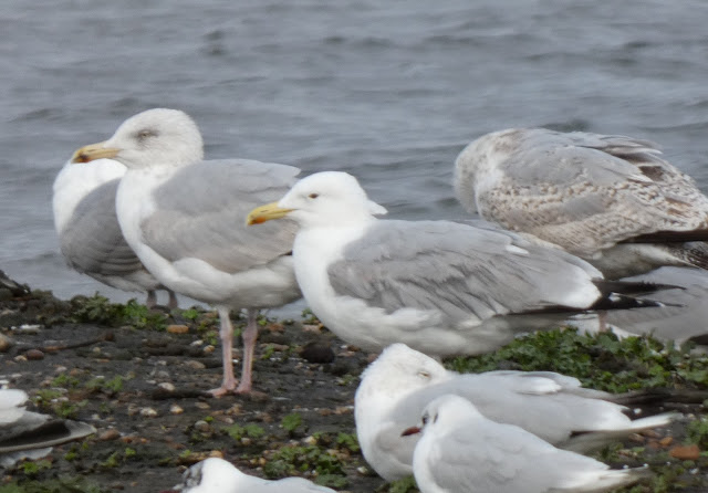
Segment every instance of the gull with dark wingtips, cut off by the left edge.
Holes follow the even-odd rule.
[[[59,445],[93,434],[91,424],[28,411],[28,395],[19,389],[0,389],[0,466],[21,459],[40,459]]]

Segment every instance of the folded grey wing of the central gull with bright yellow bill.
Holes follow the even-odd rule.
[[[456,323],[476,315],[585,308],[600,273],[559,249],[448,221],[377,221],[327,269],[339,295],[393,313],[440,311]]]

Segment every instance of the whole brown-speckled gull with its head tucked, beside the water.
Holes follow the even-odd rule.
[[[555,243],[606,279],[663,265],[708,269],[708,197],[650,141],[494,132],[460,153],[454,182],[468,212]]]

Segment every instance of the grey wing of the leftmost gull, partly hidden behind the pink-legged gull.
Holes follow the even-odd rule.
[[[144,269],[126,243],[115,212],[119,179],[97,187],[76,206],[62,231],[62,254],[80,272],[126,275]]]

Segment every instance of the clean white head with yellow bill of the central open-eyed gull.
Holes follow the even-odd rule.
[[[253,209],[248,223],[288,216],[301,227],[334,227],[365,222],[386,209],[366,197],[352,175],[323,171],[298,181],[278,203]]]

